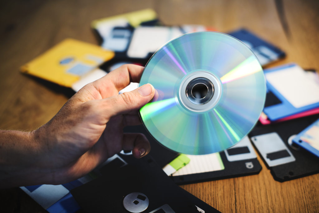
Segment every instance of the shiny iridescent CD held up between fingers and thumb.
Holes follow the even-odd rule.
[[[189,155],[225,150],[255,126],[265,102],[263,69],[253,52],[219,32],[184,34],[146,64],[139,84],[155,95],[140,109],[148,132]]]

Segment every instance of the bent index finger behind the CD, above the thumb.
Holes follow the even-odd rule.
[[[106,98],[108,97],[107,94],[109,94],[109,92],[118,93],[120,90],[127,87],[130,82],[138,83],[143,69],[144,67],[139,65],[122,65],[93,83],[99,90],[102,98]]]

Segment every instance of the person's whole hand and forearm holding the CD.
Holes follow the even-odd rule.
[[[145,135],[123,133],[123,127],[141,124],[137,112],[155,90],[146,84],[118,94],[139,81],[143,68],[123,65],[86,85],[37,130],[1,130],[0,188],[70,182],[122,150],[147,155]]]

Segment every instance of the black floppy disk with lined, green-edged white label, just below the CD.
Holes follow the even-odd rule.
[[[161,168],[179,155],[155,141],[142,125],[127,126],[124,128],[124,132],[145,134],[151,144],[149,155]],[[219,153],[187,156],[190,159],[189,163],[170,176],[179,185],[253,175],[258,174],[262,169],[254,148],[247,137],[235,146]]]

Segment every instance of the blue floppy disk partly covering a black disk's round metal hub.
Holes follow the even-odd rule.
[[[297,134],[293,142],[319,157],[319,119]]]

